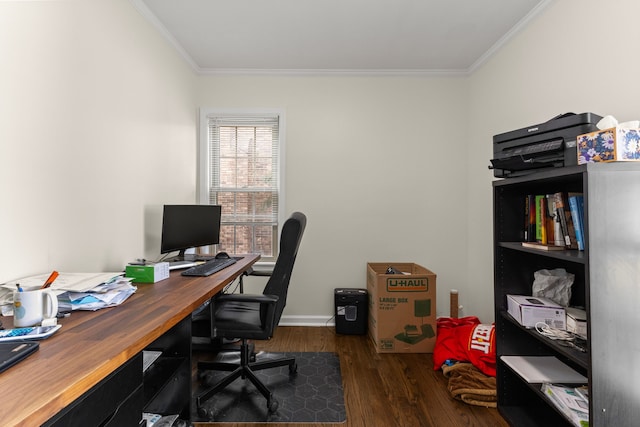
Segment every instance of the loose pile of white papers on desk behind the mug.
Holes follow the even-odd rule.
[[[60,273],[51,289],[58,296],[58,310],[98,310],[121,304],[136,291],[123,273]],[[49,274],[26,277],[2,285],[2,303],[11,304],[16,283],[25,290],[39,289]],[[8,301],[5,301],[8,300]]]

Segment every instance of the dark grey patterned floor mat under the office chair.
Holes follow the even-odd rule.
[[[258,353],[257,360],[293,356],[298,364],[296,374],[287,366],[258,371],[257,376],[271,390],[279,405],[270,414],[266,399],[248,379],[237,379],[212,396],[203,407],[210,417],[198,415],[193,399],[192,420],[200,422],[261,423],[341,423],[346,421],[340,359],[335,353]],[[235,362],[238,355],[227,353],[218,360]],[[226,372],[211,373],[213,384]],[[199,385],[196,393],[205,389]]]

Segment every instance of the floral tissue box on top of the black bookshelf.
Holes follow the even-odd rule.
[[[578,135],[578,164],[640,160],[640,129],[609,128]]]

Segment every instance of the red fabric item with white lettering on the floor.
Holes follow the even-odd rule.
[[[470,362],[485,375],[496,376],[496,345],[494,325],[480,323],[475,316],[437,319],[433,369],[447,361]]]

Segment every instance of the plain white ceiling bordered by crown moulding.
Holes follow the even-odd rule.
[[[468,74],[552,0],[130,0],[200,74]]]

